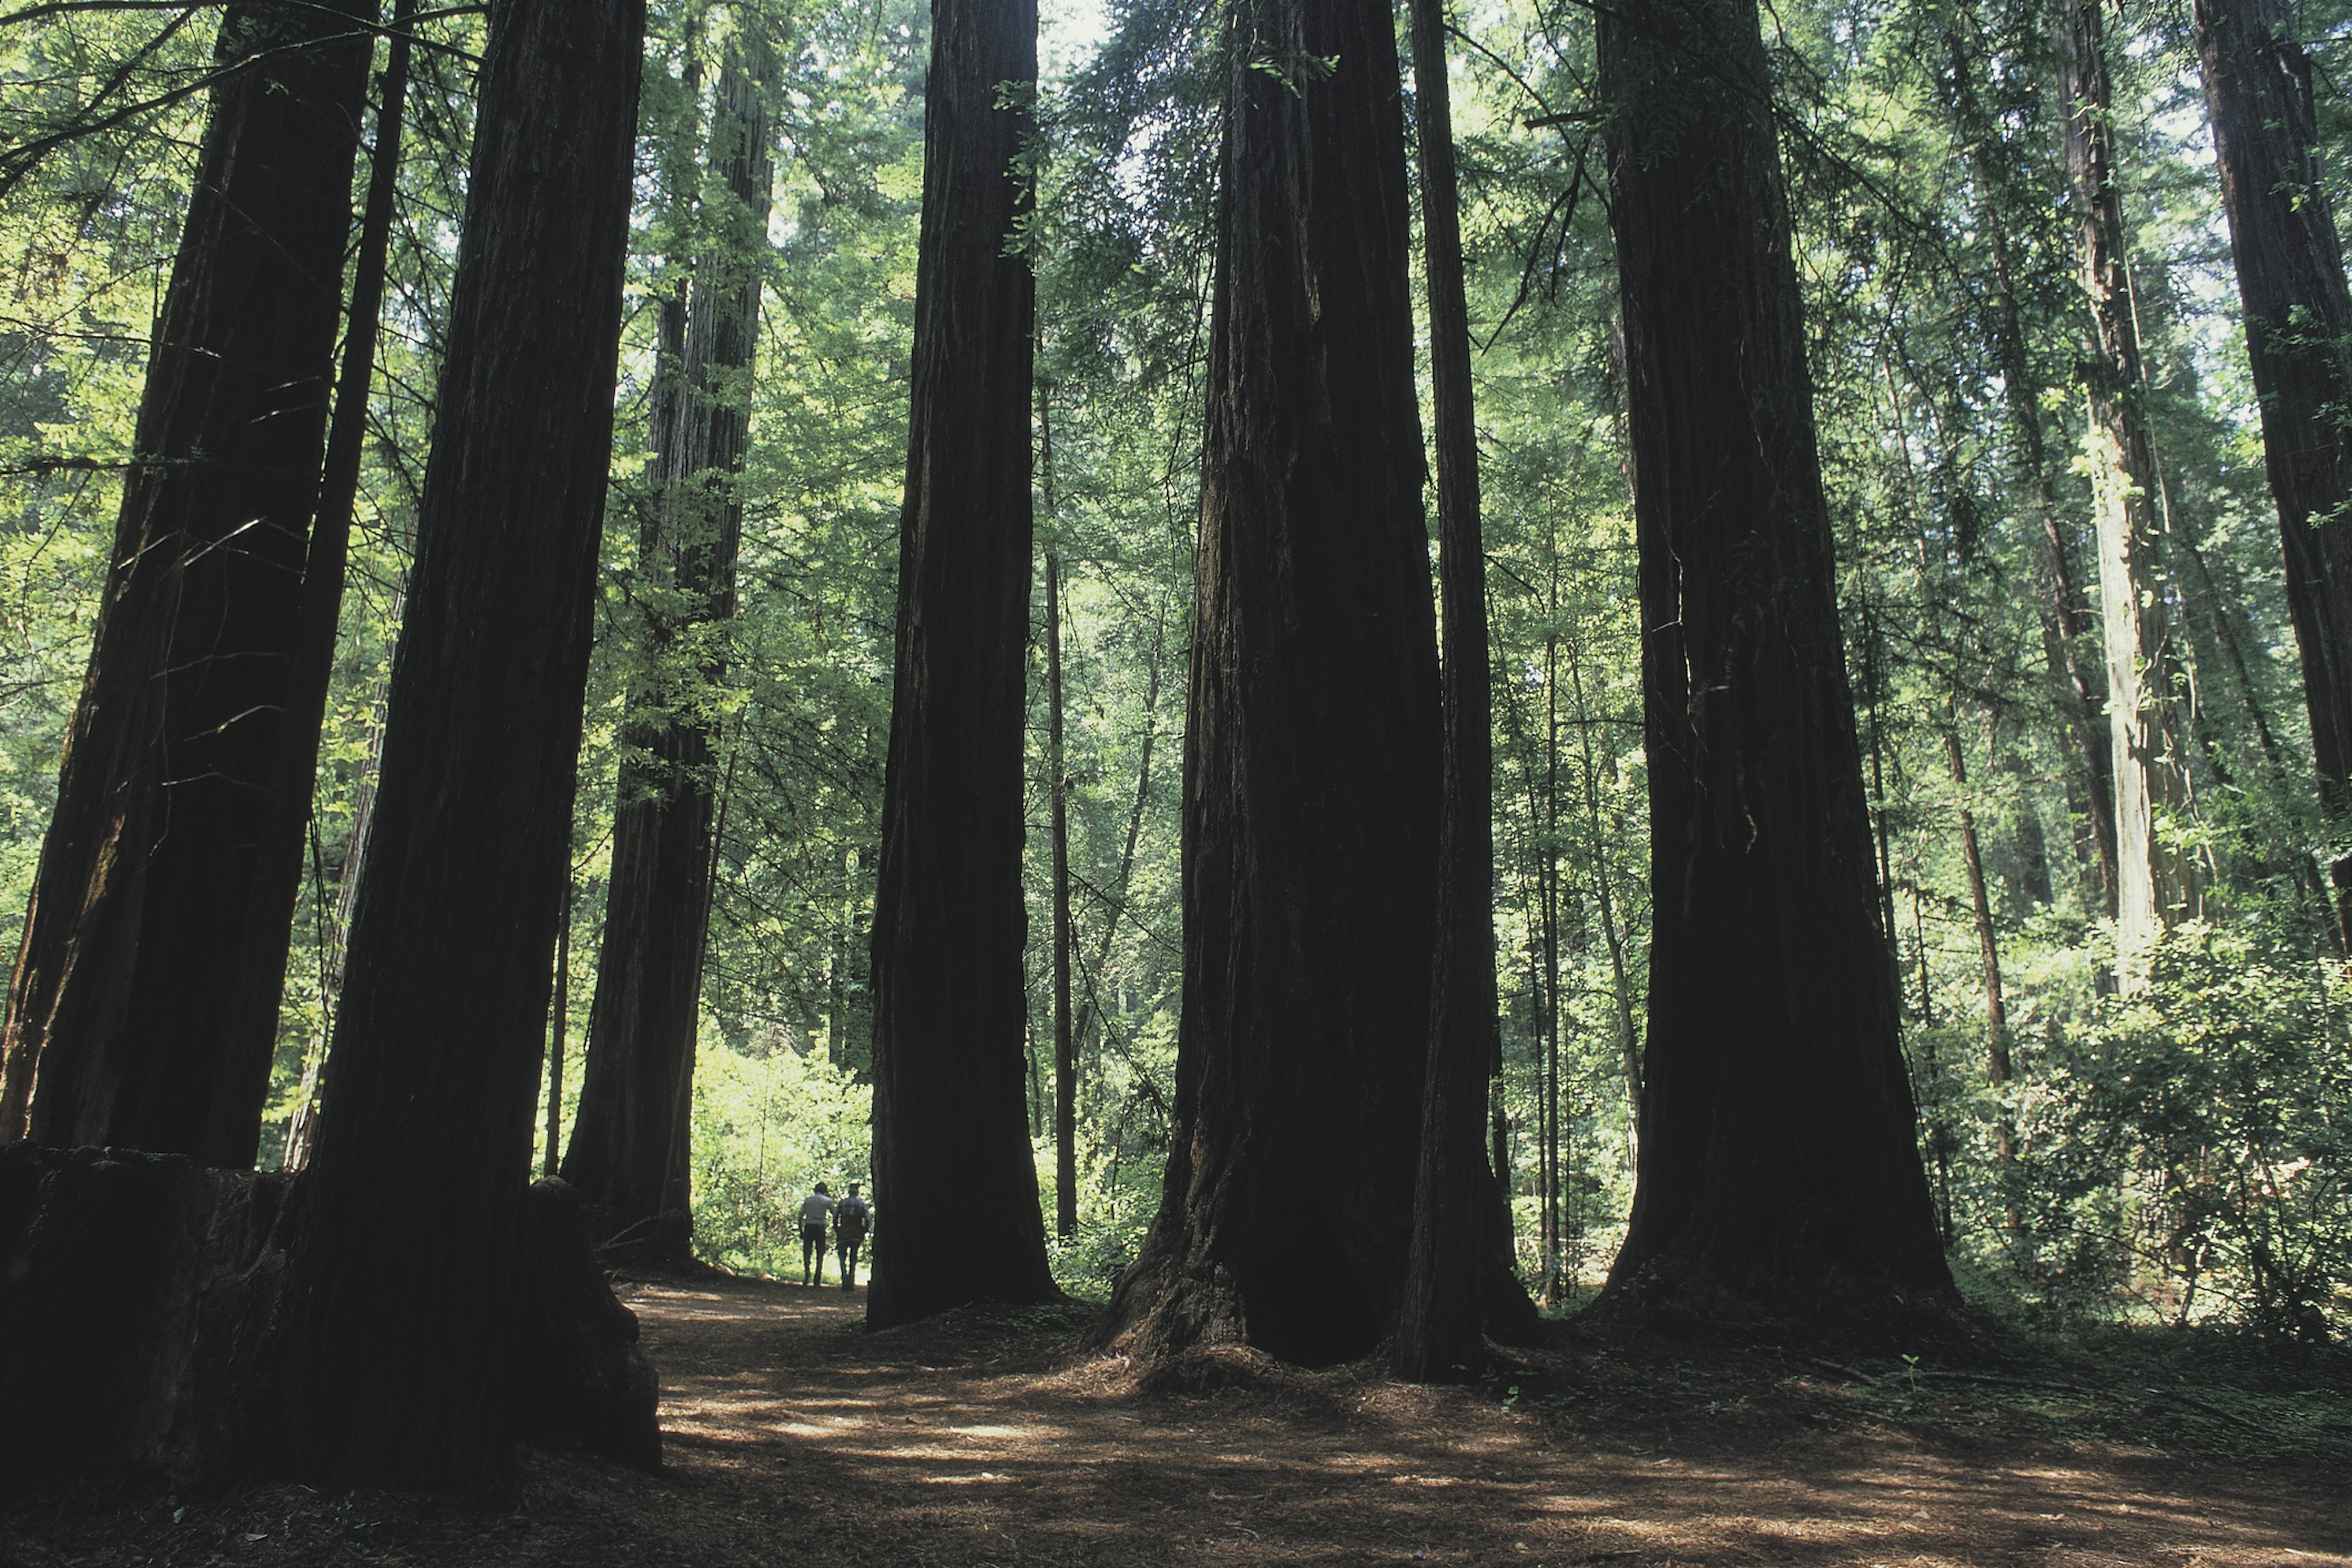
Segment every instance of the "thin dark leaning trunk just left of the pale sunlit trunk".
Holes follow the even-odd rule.
[[[1971,12],[1962,12],[1947,33],[1952,99],[1959,129],[1969,141],[1969,165],[1980,193],[1978,221],[1985,244],[1992,252],[1992,348],[2002,367],[2002,397],[2009,407],[2009,428],[2018,442],[2018,473],[2027,484],[2032,510],[2042,520],[2044,569],[2049,571],[2051,590],[2042,630],[2051,675],[2058,677],[2060,686],[2060,741],[2082,776],[2091,811],[2091,844],[2098,851],[2098,903],[2112,914],[2114,889],[2122,875],[2114,858],[2114,757],[2100,726],[2100,710],[2107,705],[2107,684],[2096,663],[2098,646],[2091,635],[2091,616],[2084,609],[2089,597],[2082,588],[2082,559],[2058,510],[2049,442],[2042,433],[2042,378],[2034,374],[2032,357],[2025,350],[2016,259],[2004,223],[2004,212],[2020,209],[2025,197],[2018,190],[2013,165],[2002,158],[1999,132],[1978,96],[1978,71],[1985,68],[1987,45],[1973,21]]]

